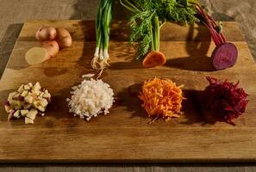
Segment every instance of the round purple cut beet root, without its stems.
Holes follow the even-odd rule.
[[[225,42],[221,46],[216,46],[211,57],[216,70],[224,70],[232,67],[237,59],[238,51],[234,44]]]

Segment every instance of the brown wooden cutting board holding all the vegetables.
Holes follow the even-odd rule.
[[[39,46],[35,31],[42,25],[66,27],[74,40],[71,48],[56,58],[29,66],[24,60],[28,48]],[[168,58],[163,67],[144,69],[134,48],[128,45],[128,26],[114,22],[109,45],[111,66],[103,81],[116,94],[110,114],[87,122],[68,113],[66,98],[81,76],[94,72],[91,58],[95,48],[94,22],[25,22],[0,83],[0,99],[22,83],[40,81],[50,90],[53,101],[45,117],[34,125],[24,120],[7,122],[0,107],[0,162],[240,162],[256,161],[256,66],[247,43],[235,22],[224,22],[224,34],[239,49],[237,64],[214,71],[210,54],[215,45],[209,32],[200,26],[180,27],[167,23],[161,31],[161,51]],[[235,120],[236,126],[210,120],[203,108],[205,77],[240,80],[250,95],[247,113]],[[151,77],[170,78],[184,84],[184,114],[169,122],[151,120],[140,107],[135,92],[138,83]]]

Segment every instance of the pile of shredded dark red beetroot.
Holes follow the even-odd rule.
[[[213,111],[216,117],[234,125],[234,119],[246,111],[247,93],[238,87],[239,82],[222,82],[213,77],[206,77],[209,86],[205,89],[207,107]]]

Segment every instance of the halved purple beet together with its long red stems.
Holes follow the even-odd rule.
[[[212,39],[215,42],[215,50],[211,57],[216,70],[223,70],[232,67],[238,56],[237,47],[233,43],[227,42],[222,34],[222,23],[206,14],[199,3],[191,3],[197,8],[200,21],[209,29]]]

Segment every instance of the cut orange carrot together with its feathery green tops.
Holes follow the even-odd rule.
[[[190,0],[189,2],[195,2]],[[145,67],[165,64],[165,55],[159,52],[160,28],[166,21],[179,23],[198,22],[197,10],[184,1],[170,0],[120,0],[133,15],[130,18],[130,42],[138,41],[138,58]],[[148,53],[149,52],[149,53]],[[145,55],[147,54],[146,58]]]

